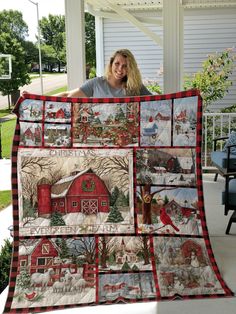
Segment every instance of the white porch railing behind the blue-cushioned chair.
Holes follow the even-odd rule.
[[[229,135],[236,131],[236,112],[230,113],[203,113],[203,145],[202,165],[210,168],[210,153],[213,150],[213,138]],[[222,149],[223,143],[220,143]]]

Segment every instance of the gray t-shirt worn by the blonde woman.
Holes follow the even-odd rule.
[[[102,77],[95,77],[86,81],[80,89],[87,97],[125,97],[124,88],[113,88],[107,80]],[[152,95],[149,90],[143,85],[140,91],[140,95]],[[136,96],[136,95],[133,95]]]

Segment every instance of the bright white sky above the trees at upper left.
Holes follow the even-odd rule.
[[[39,19],[43,16],[48,17],[49,14],[64,15],[64,0],[33,0],[38,3]],[[37,7],[29,0],[0,0],[0,11],[17,10],[22,12],[23,20],[28,25],[29,37],[27,40],[36,41],[37,34]]]

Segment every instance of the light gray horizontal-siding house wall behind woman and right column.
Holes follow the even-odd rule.
[[[141,13],[139,14],[141,15]],[[146,17],[161,17],[161,12],[145,12]],[[162,27],[147,25],[162,36]],[[159,70],[163,64],[163,49],[129,22],[104,19],[104,63],[119,48],[130,49],[136,57],[143,80],[156,80],[163,86]],[[184,10],[184,74],[191,75],[201,69],[202,61],[209,53],[220,52],[236,43],[236,8],[210,8]],[[211,111],[236,103],[236,71],[232,75],[233,86],[229,93],[211,106]]]

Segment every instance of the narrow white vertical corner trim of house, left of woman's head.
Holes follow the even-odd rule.
[[[104,74],[104,43],[103,43],[103,18],[95,16],[96,29],[96,75]]]

